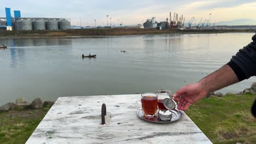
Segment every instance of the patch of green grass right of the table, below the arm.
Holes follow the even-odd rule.
[[[186,112],[213,143],[256,143],[251,105],[256,95],[204,98]]]

